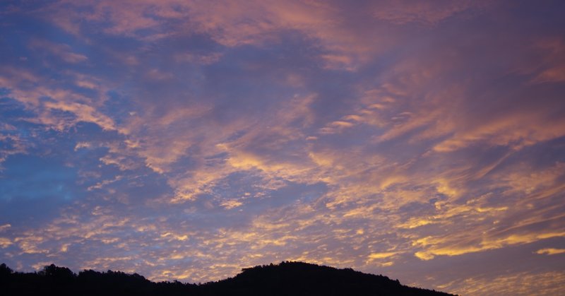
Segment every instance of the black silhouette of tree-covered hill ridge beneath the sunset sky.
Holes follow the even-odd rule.
[[[153,283],[137,273],[45,266],[36,273],[0,265],[0,295],[450,295],[400,285],[386,276],[302,262],[244,268],[217,282]]]

